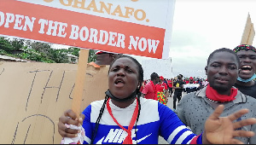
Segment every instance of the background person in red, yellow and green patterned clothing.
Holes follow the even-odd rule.
[[[168,99],[167,96],[169,96],[169,92],[167,91],[167,85],[163,82],[164,77],[160,76],[160,82],[158,84],[155,84],[155,91],[156,96],[154,100],[159,101],[160,103],[166,105]]]

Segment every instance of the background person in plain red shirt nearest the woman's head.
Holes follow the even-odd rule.
[[[144,86],[142,97],[146,99],[153,99],[155,96],[155,84],[159,82],[159,75],[152,73],[150,75],[150,81]]]

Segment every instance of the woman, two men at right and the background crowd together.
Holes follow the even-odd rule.
[[[205,71],[207,79],[152,73],[143,80],[142,65],[121,55],[110,64],[105,99],[80,116],[61,115],[61,143],[158,144],[162,136],[172,144],[255,144],[256,49],[216,49]],[[174,110],[166,106],[170,96]]]

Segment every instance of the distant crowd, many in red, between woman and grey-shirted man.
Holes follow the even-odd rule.
[[[183,78],[182,74],[178,74],[177,78],[164,78],[157,73],[152,73],[150,78],[143,80],[139,96],[154,99],[166,105],[168,97],[172,97],[173,94],[173,110],[176,109],[176,102],[181,100],[183,92],[189,94],[201,90],[208,84],[207,79]]]

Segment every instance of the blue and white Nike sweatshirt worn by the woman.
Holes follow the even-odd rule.
[[[151,99],[140,99],[140,116],[137,127],[135,128],[134,125],[131,133],[133,144],[158,144],[159,136],[164,137],[165,140],[171,144],[189,144],[193,139],[193,142],[201,144],[201,135],[195,135],[183,125],[176,113],[172,112],[172,109]],[[91,142],[92,131],[96,125],[96,119],[99,116],[103,102],[103,100],[92,102],[84,109],[83,113],[85,119],[83,127],[86,136],[84,144],[90,144]],[[110,100],[109,105],[112,109],[113,117],[117,119],[120,125],[123,125],[125,129],[127,129],[137,102],[133,102],[129,107],[120,108],[115,106]],[[137,136],[135,130],[137,130]],[[127,132],[123,131],[123,129],[113,121],[106,105],[102,119],[100,120],[96,138],[92,143],[121,144],[126,136]]]

